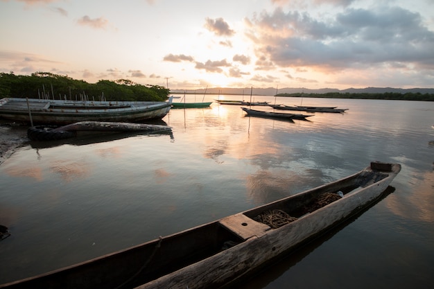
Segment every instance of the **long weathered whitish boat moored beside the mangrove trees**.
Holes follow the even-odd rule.
[[[135,122],[162,119],[171,109],[168,101],[76,101],[35,98],[2,98],[0,117],[34,123],[79,121]]]

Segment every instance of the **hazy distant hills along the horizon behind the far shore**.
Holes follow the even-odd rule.
[[[238,94],[238,95],[250,95],[250,87],[245,88],[227,88],[227,87],[214,87],[208,88],[207,94]],[[204,94],[205,89],[196,90],[184,90],[184,89],[171,89],[172,94]],[[420,93],[420,94],[434,94],[434,88],[392,88],[392,87],[366,87],[366,88],[349,88],[349,89],[333,89],[333,88],[322,88],[322,89],[307,89],[303,87],[286,87],[277,90],[278,94],[327,94],[330,92],[338,92],[341,94],[384,94],[386,92],[393,92],[399,94],[406,93]],[[253,88],[253,95],[260,96],[275,96],[276,89],[273,87],[268,88]]]

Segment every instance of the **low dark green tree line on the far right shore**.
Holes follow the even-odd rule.
[[[358,98],[358,99],[388,99],[388,100],[423,100],[434,101],[434,94],[421,94],[420,92],[406,92],[400,94],[399,92],[384,92],[384,93],[340,93],[328,92],[327,94],[277,94],[276,96],[290,96],[290,97],[317,97],[317,98]]]

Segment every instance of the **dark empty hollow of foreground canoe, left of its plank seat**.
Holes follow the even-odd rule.
[[[4,284],[7,288],[134,288],[223,251],[241,240],[218,222],[101,256],[69,268]],[[131,279],[131,281],[130,281]],[[3,288],[0,285],[0,288]]]

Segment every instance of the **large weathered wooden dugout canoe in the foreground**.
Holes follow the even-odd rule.
[[[0,288],[228,286],[378,202],[400,170],[372,162],[315,189]]]

